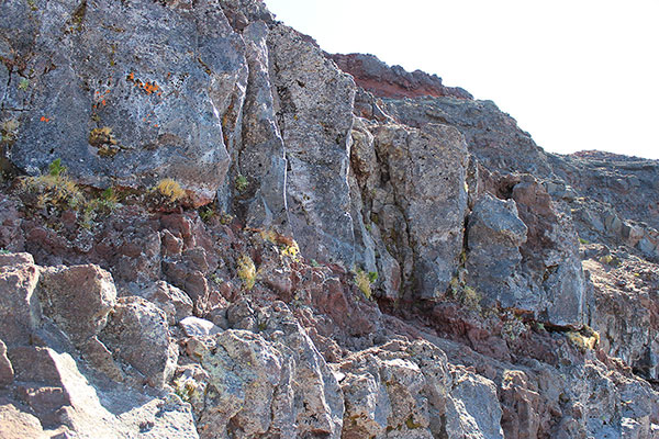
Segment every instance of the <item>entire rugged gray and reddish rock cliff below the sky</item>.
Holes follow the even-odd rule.
[[[257,0],[0,14],[1,437],[659,437],[656,161]]]

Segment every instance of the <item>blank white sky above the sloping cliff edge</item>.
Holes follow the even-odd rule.
[[[536,143],[659,159],[659,0],[265,0],[330,53],[491,99]]]

